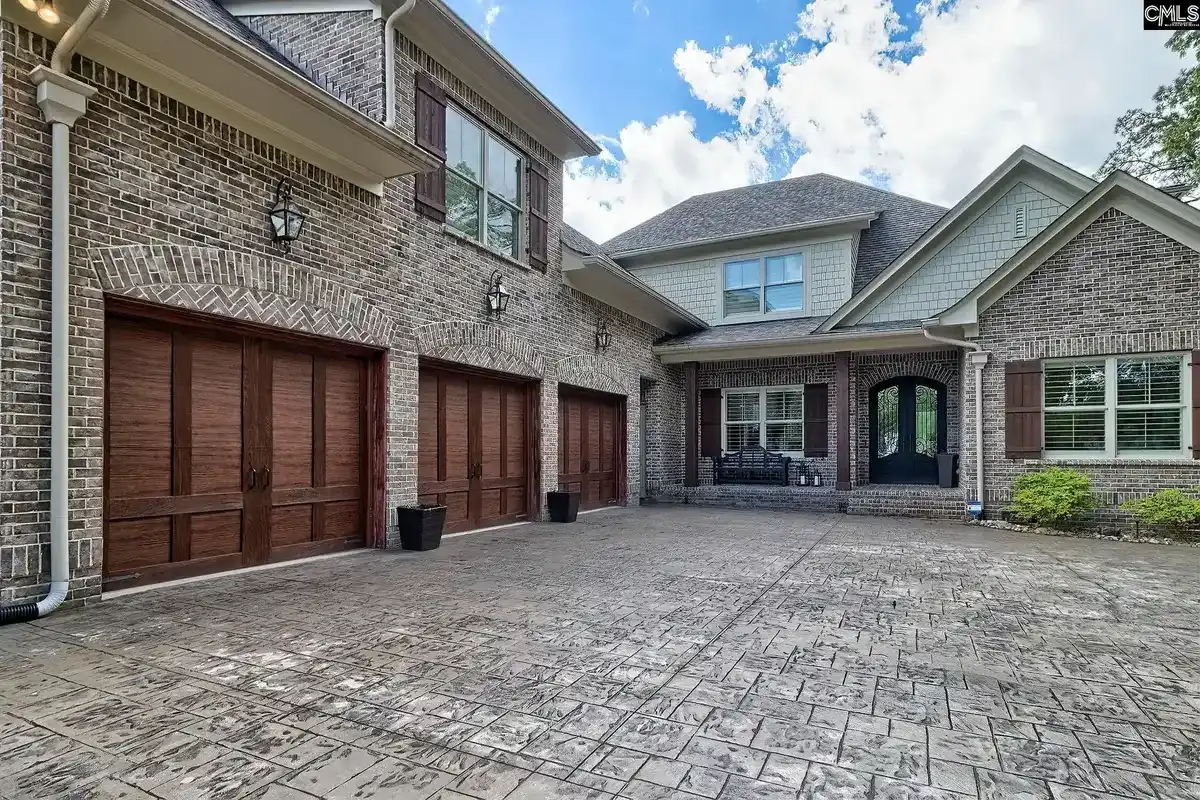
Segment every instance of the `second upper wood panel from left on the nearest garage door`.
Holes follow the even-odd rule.
[[[242,344],[190,337],[191,493],[241,491]]]

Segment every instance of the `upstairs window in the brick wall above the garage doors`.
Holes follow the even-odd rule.
[[[446,224],[518,258],[523,167],[491,131],[446,107]]]

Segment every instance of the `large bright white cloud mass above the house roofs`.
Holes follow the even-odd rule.
[[[776,174],[882,175],[942,204],[1021,144],[1091,172],[1116,118],[1183,66],[1129,0],[930,0],[911,26],[905,43],[892,0],[812,0],[758,50],[684,43],[676,70],[727,132],[701,140],[680,114],[631,122],[613,161],[568,168],[568,219],[604,240],[690,194],[761,180],[770,157]]]

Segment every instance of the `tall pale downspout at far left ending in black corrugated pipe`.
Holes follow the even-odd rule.
[[[50,591],[35,602],[0,608],[0,624],[23,622],[54,612],[71,585],[67,540],[67,437],[71,332],[71,126],[88,110],[96,89],[67,76],[71,56],[109,0],[91,0],[59,40],[50,67],[34,67],[37,104],[50,124]]]

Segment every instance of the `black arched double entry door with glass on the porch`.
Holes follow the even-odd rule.
[[[946,386],[895,378],[871,390],[871,483],[937,483],[946,452]]]

